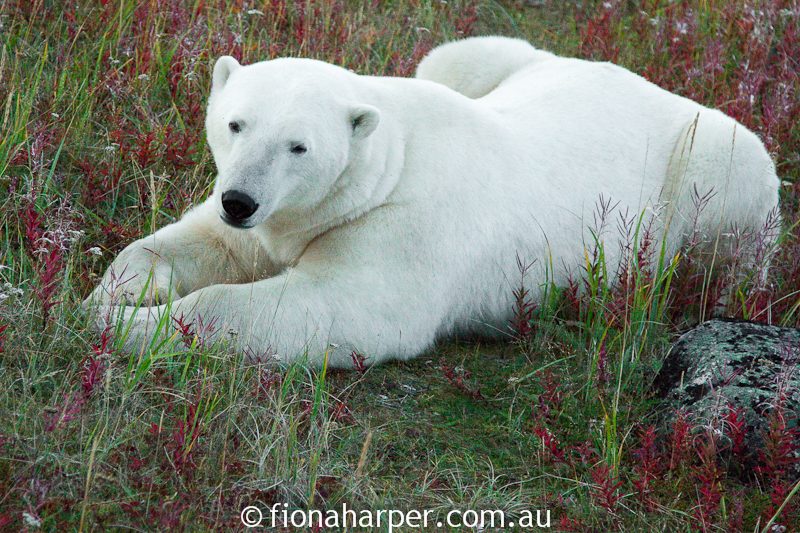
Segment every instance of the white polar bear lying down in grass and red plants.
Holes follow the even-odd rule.
[[[715,191],[709,233],[759,226],[778,203],[768,153],[731,118],[501,37],[437,48],[416,79],[222,57],[206,129],[210,198],[126,248],[87,299],[100,315],[123,304],[129,349],[171,314],[285,362],[408,359],[507,331],[517,258],[534,262],[533,297],[545,275],[566,283],[601,195],[656,213],[668,253],[694,187]]]

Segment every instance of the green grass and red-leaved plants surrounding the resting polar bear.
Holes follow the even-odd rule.
[[[507,343],[279,371],[204,346],[200,324],[173,324],[185,353],[125,355],[119,331],[87,323],[79,302],[113,256],[209,192],[213,58],[407,76],[435,44],[484,33],[614,60],[757,131],[785,183],[766,281],[763,254],[716,272],[699,242],[663,257],[601,200],[585,267],[541,301],[523,281]],[[796,2],[0,0],[0,35],[0,528],[225,529],[247,504],[347,502],[550,508],[565,531],[798,530],[780,401],[758,453],[736,448],[735,414],[656,431],[650,392],[725,292],[726,314],[800,325]],[[604,231],[629,236],[621,272]]]

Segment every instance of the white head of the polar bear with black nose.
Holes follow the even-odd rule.
[[[206,133],[220,217],[251,228],[314,209],[368,147],[379,111],[358,103],[348,71],[309,59],[214,66]]]

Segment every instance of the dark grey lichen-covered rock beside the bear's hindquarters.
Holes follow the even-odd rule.
[[[710,320],[685,333],[656,378],[668,413],[687,412],[725,434],[730,409],[741,409],[745,446],[753,458],[764,444],[778,398],[790,432],[800,415],[800,330],[736,320]],[[800,470],[800,462],[795,463]]]

